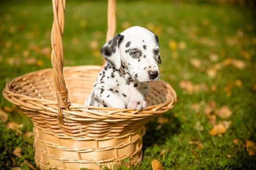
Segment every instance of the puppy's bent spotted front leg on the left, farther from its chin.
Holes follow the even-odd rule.
[[[112,108],[126,108],[123,99],[112,91],[99,88],[94,92],[94,97],[98,100],[99,103],[102,104],[102,106]]]

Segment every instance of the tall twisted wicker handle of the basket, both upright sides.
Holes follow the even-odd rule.
[[[52,67],[53,81],[56,88],[58,102],[58,120],[63,123],[63,109],[69,110],[71,102],[68,102],[68,91],[63,76],[64,50],[62,35],[64,31],[65,0],[52,0],[54,21],[52,25]],[[115,0],[108,0],[108,31],[106,40],[108,41],[115,34]],[[103,62],[103,64],[106,60]]]

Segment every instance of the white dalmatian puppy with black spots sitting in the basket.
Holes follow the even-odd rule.
[[[146,108],[148,84],[159,79],[157,35],[140,26],[118,33],[101,47],[107,60],[85,105]]]

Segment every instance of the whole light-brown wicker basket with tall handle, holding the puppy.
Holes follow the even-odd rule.
[[[148,107],[141,111],[83,105],[102,66],[63,67],[65,1],[53,0],[53,11],[53,68],[16,77],[3,91],[34,124],[36,164],[100,170],[128,157],[130,163],[140,162],[144,125],[173,108],[175,91],[164,81],[150,84]],[[107,39],[115,32],[113,15],[115,0],[109,0]]]

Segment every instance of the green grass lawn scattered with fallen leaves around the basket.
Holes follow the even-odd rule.
[[[245,6],[208,3],[117,1],[117,33],[127,25],[140,25],[158,35],[161,78],[173,86],[178,99],[163,115],[166,122],[154,119],[147,125],[142,163],[130,169],[152,169],[152,159],[159,160],[166,170],[256,169],[256,156],[249,156],[243,146],[245,139],[256,142],[254,11]],[[51,47],[52,15],[50,1],[0,2],[0,91],[14,77],[51,67],[47,50]],[[105,43],[106,29],[105,1],[67,1],[65,65],[100,65],[99,49]],[[99,46],[90,48],[92,41]],[[212,54],[218,56],[216,61],[209,57]],[[192,59],[200,61],[198,67],[191,64]],[[207,74],[209,68],[227,59],[233,64],[214,70],[215,77]],[[194,85],[191,93],[180,86],[184,80]],[[242,84],[237,85],[237,81]],[[202,84],[203,89],[195,89]],[[213,125],[204,114],[209,101],[216,103],[214,110],[228,106],[232,112],[227,119],[231,125],[224,134],[209,135]],[[0,107],[4,106],[11,104],[1,95]],[[7,114],[8,121],[0,124],[1,169],[20,166],[24,160],[35,165],[33,139],[25,136],[32,130],[31,121],[17,110]],[[223,120],[217,116],[216,124]],[[24,125],[20,134],[7,130],[10,121]],[[234,139],[240,143],[234,144]],[[12,154],[18,147],[22,148],[21,158]]]

